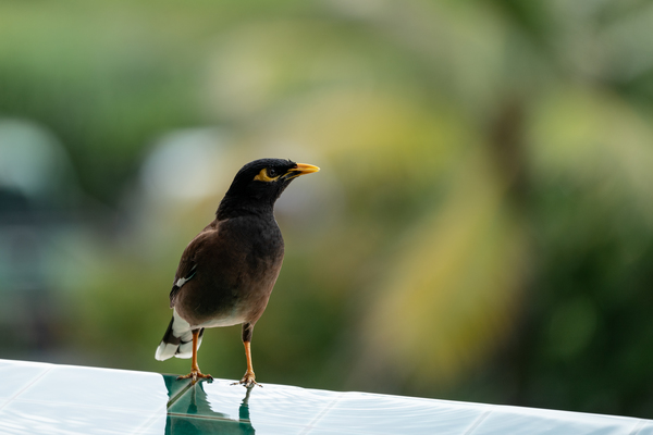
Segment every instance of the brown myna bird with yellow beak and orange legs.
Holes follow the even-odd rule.
[[[247,370],[239,382],[259,385],[251,363],[254,326],[262,315],[281,271],[284,241],[274,203],[312,164],[259,159],[235,175],[211,221],[182,253],[172,290],[172,319],[155,358],[192,358],[190,373],[180,380],[211,382],[197,364],[205,328],[242,324]]]

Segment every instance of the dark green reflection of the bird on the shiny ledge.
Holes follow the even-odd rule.
[[[168,388],[168,417],[165,419],[165,435],[194,435],[194,434],[255,434],[256,431],[249,421],[249,395],[247,388],[245,398],[238,409],[238,420],[231,419],[229,414],[215,412],[209,406],[204,382],[189,387],[178,395],[172,387],[177,382],[172,376],[163,376]],[[180,397],[181,396],[181,397]]]

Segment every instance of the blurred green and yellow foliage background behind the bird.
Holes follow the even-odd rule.
[[[653,3],[0,2],[0,358],[158,362],[236,171],[319,165],[252,352],[304,387],[653,418]],[[205,372],[239,378],[239,328]]]

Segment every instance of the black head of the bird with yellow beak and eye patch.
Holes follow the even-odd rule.
[[[274,202],[291,182],[318,172],[311,164],[284,159],[260,159],[238,171],[218,209],[218,219],[241,213],[272,211]]]

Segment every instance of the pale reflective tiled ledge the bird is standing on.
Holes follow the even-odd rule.
[[[0,360],[1,434],[653,435],[653,422]]]

